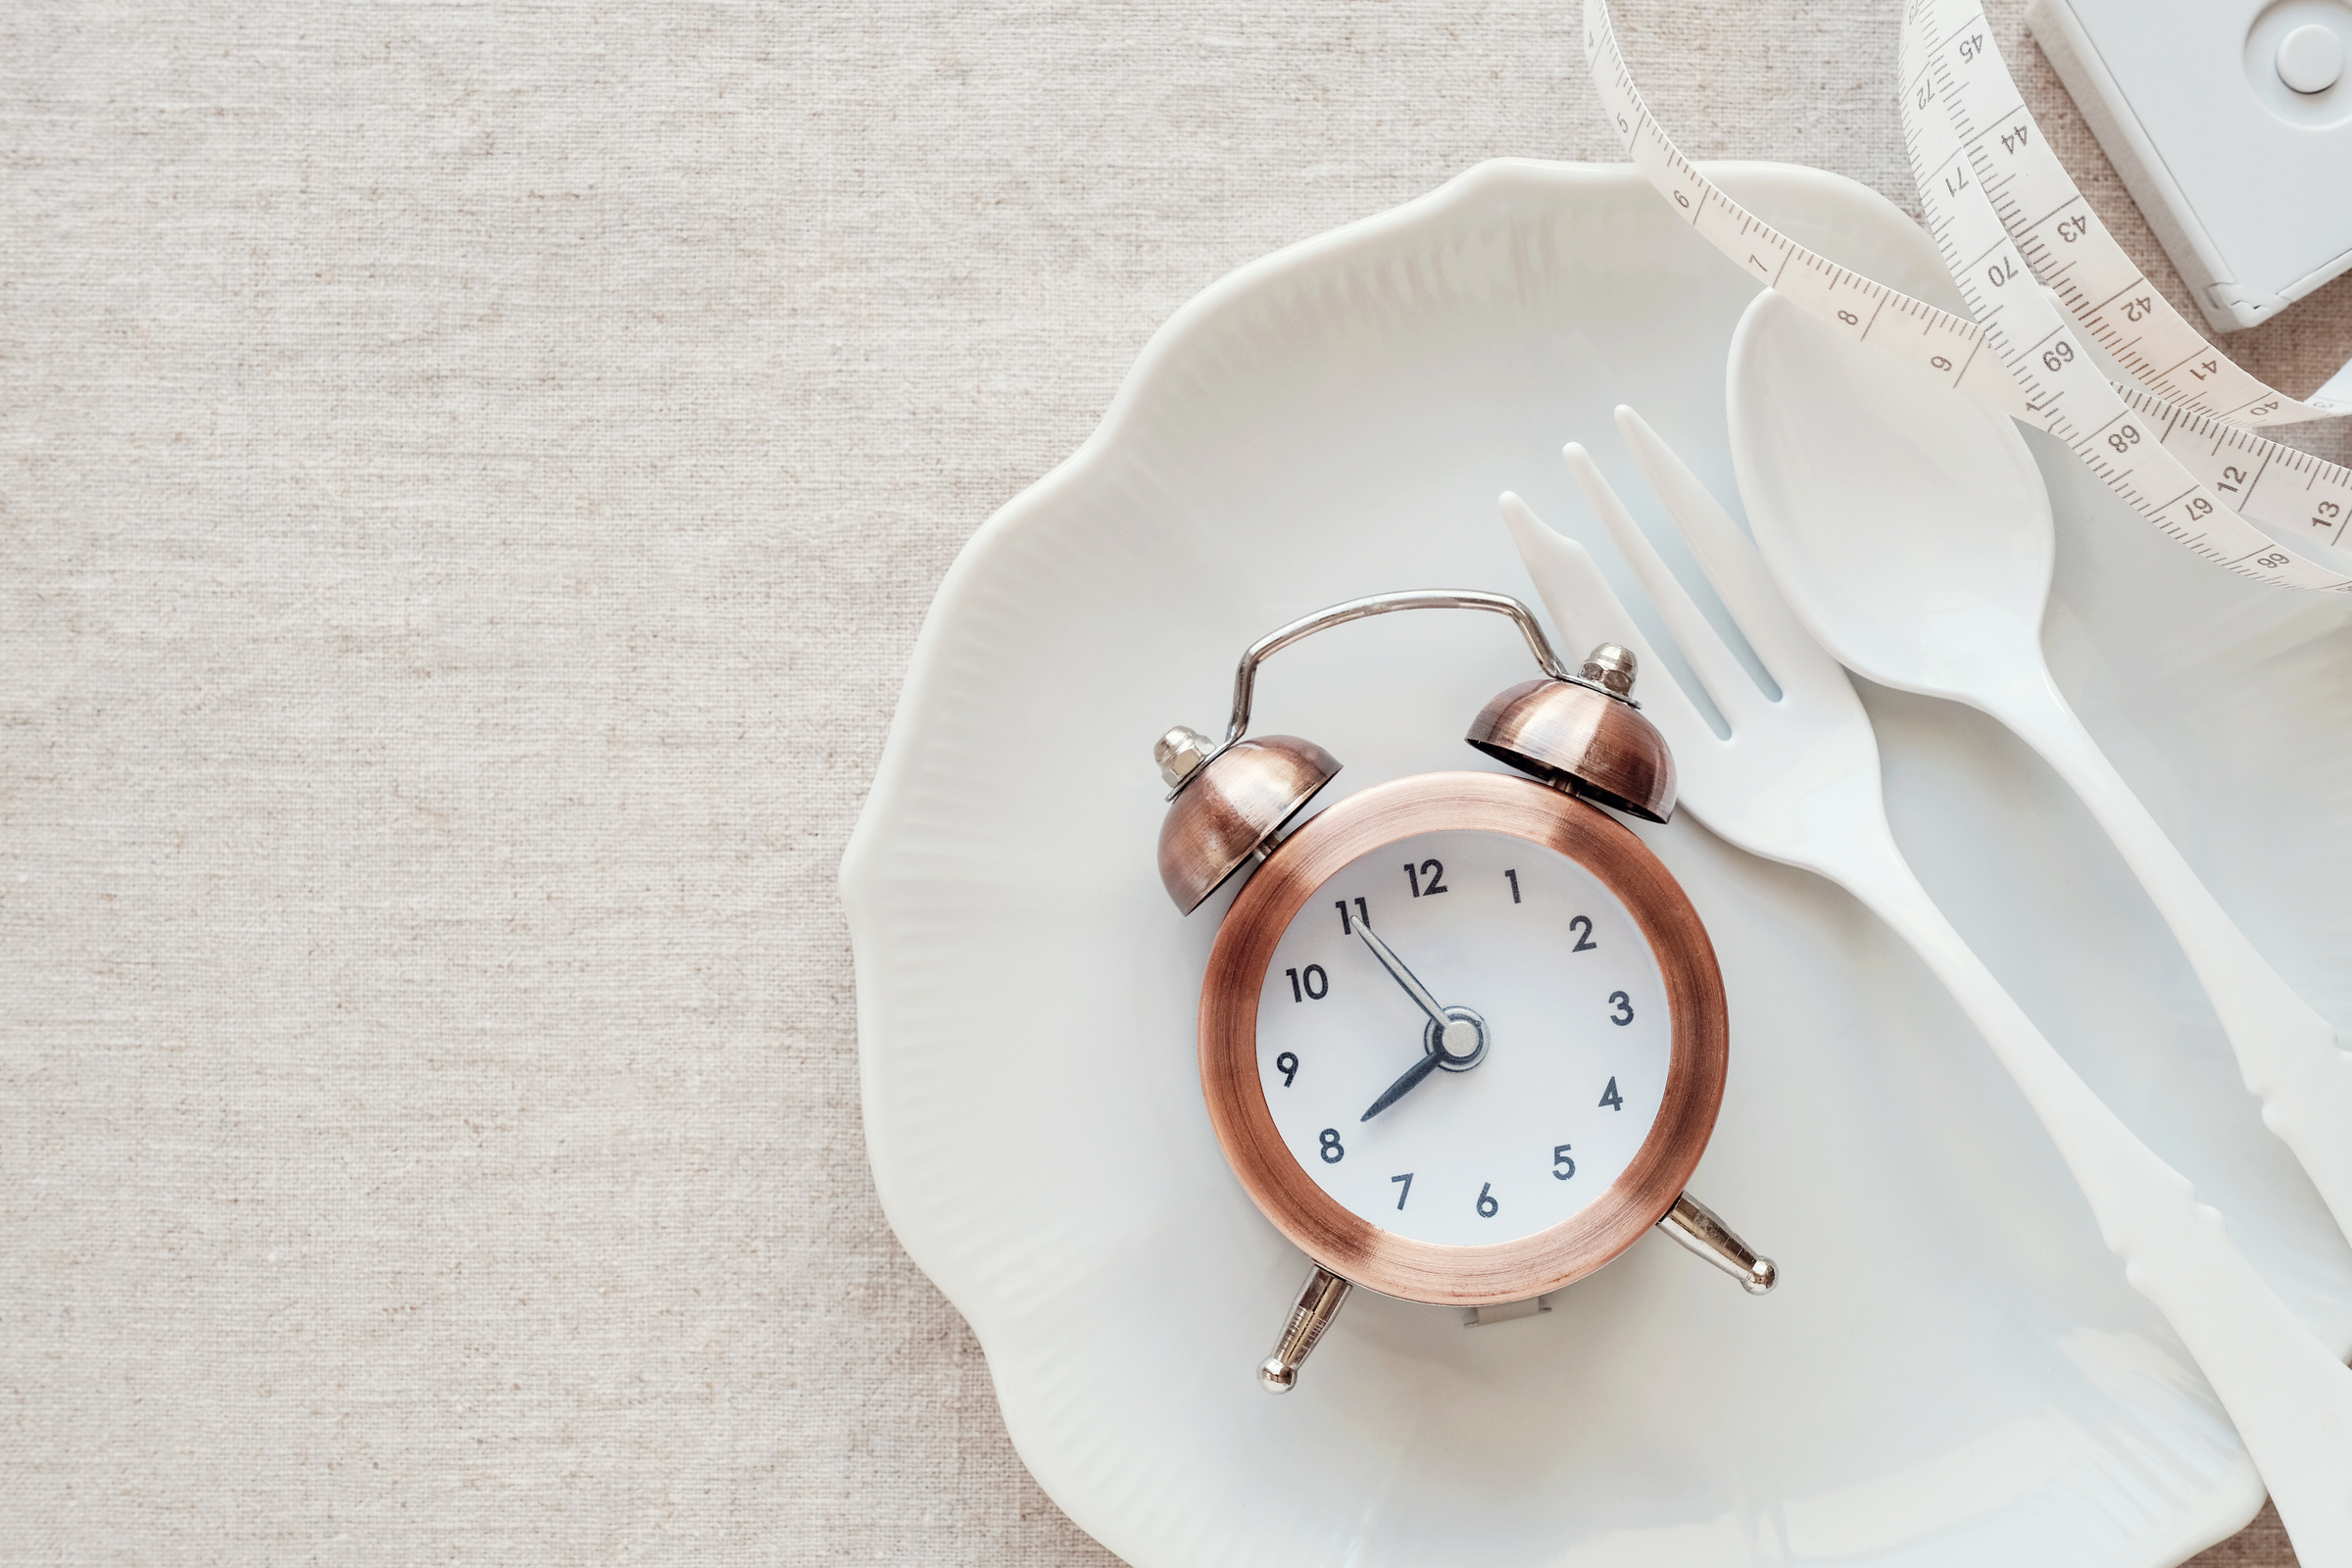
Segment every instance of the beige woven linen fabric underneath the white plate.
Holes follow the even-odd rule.
[[[1623,31],[1689,150],[1912,205],[1891,0]],[[1609,158],[1573,38],[9,5],[0,1559],[1108,1561],[875,1206],[840,851],[950,557],[1152,327]],[[2232,350],[2310,390],[2352,289]]]

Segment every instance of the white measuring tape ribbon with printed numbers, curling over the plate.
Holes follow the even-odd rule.
[[[2249,522],[2343,541],[2352,470],[2253,425],[2352,414],[2352,402],[2263,386],[2164,301],[2042,141],[1976,0],[1905,0],[1900,49],[1919,205],[1973,322],[1804,249],[1698,174],[1642,101],[1606,0],[1585,0],[1585,61],[1625,153],[1750,275],[1849,339],[2049,430],[2197,555],[2260,583],[2352,592],[2343,569]],[[2145,386],[2110,383],[2077,329]]]

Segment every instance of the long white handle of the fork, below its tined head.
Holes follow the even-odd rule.
[[[2124,1279],[2180,1335],[2237,1425],[2305,1568],[2352,1568],[2352,1368],[2286,1309],[2218,1211],[2067,1067],[1886,837],[1835,875],[1950,987],[2058,1145]]]

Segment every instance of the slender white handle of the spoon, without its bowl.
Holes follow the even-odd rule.
[[[2352,1237],[2352,1051],[2213,900],[2049,672],[2032,675],[2039,679],[1999,693],[1992,717],[2042,752],[2114,839],[2213,999],[2246,1091],[2263,1100],[2263,1124],[2296,1152],[2336,1227]]]

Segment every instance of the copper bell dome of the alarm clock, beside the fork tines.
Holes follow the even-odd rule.
[[[1557,790],[1663,823],[1675,813],[1675,755],[1635,705],[1632,675],[1632,651],[1604,642],[1573,682],[1498,693],[1463,741]]]

